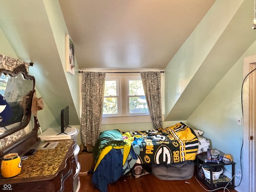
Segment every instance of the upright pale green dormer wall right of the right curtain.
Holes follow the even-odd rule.
[[[216,46],[224,30],[226,30],[230,20],[232,20],[237,10],[240,8],[242,2],[243,0],[216,0],[206,16],[204,16],[202,21],[198,24],[192,34],[188,37],[188,39],[184,42],[184,44],[166,66],[164,71],[165,120],[170,120],[171,117],[169,113],[175,104],[178,104],[180,108],[182,108],[184,104],[187,105],[186,100],[177,102],[186,88],[197,90],[197,92],[200,92],[200,95],[204,94],[204,90],[207,89],[207,86],[204,88],[204,90],[198,89],[198,84],[191,87],[191,80],[193,78],[198,78],[196,73],[202,65],[209,65],[208,63],[205,63],[207,58],[210,61],[218,58],[216,57],[216,53],[213,53],[213,58],[209,58],[212,55],[210,53],[212,52],[213,47]],[[223,46],[220,46],[218,51],[221,50],[221,47]],[[208,68],[211,66],[212,65],[209,65]],[[199,76],[202,77],[202,75]],[[210,88],[211,87],[209,87],[209,90]],[[185,94],[185,96],[187,95]],[[197,98],[190,103],[197,102],[196,99]],[[187,108],[186,110],[194,109]]]

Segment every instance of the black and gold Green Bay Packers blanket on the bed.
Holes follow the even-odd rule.
[[[145,146],[137,163],[171,164],[196,158],[198,138],[194,130],[182,122],[167,128],[132,134],[144,137]]]

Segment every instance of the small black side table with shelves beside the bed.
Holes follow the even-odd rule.
[[[223,156],[224,153],[220,152],[220,155]],[[214,190],[216,188],[220,188],[220,187],[225,187],[228,182],[230,181],[230,179],[232,179],[232,181],[230,181],[230,183],[228,184],[228,187],[234,189],[235,187],[235,177],[233,177],[235,175],[235,162],[231,162],[229,164],[225,164],[223,162],[220,163],[208,163],[208,162],[204,162],[204,160],[207,159],[207,152],[203,152],[200,154],[196,155],[196,162],[197,162],[197,177],[208,187],[210,188],[210,190]],[[207,164],[208,166],[210,166],[210,179],[207,179],[204,177],[204,174],[202,173],[202,170],[200,171],[200,169],[202,169],[202,164]],[[223,168],[223,166],[232,166],[232,178],[229,178],[229,181],[221,181],[218,182],[218,180],[212,180],[212,172],[213,172],[213,168],[216,166],[221,166]],[[201,172],[201,174],[200,174]],[[221,174],[221,177],[226,177],[223,173]]]

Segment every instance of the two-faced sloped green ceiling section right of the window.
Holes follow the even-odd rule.
[[[253,5],[253,0],[216,1],[172,58],[165,70],[165,120],[186,120],[254,43]]]

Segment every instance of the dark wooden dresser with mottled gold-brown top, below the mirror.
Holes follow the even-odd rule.
[[[72,192],[76,170],[74,140],[56,140],[54,149],[37,150],[22,160],[18,176],[0,178],[0,190],[19,192]]]

